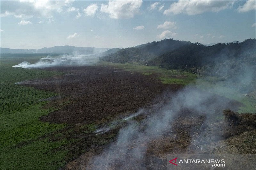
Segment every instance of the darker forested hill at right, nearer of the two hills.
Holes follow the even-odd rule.
[[[216,63],[239,60],[241,63],[256,64],[256,39],[247,39],[241,43],[218,43],[206,47],[199,43],[190,43],[173,51],[159,55],[148,61],[149,65],[167,69],[189,69],[201,66],[213,66]]]

